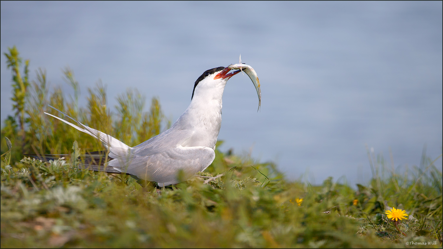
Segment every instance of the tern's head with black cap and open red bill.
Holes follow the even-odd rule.
[[[222,86],[224,88],[226,81],[229,80],[230,77],[233,77],[237,73],[240,72],[240,70],[234,71],[232,73],[229,73],[231,69],[227,67],[216,67],[213,69],[206,70],[198,79],[195,81],[194,84],[194,90],[192,90],[192,98],[194,98],[194,93],[196,93],[196,88],[198,91],[198,88],[214,88],[216,89],[217,86]]]

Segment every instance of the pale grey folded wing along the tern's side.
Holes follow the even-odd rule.
[[[215,152],[211,148],[179,146],[150,156],[135,156],[132,160],[127,161],[126,172],[164,186],[179,183],[177,180],[179,170],[183,170],[184,176],[190,179],[195,172],[205,170],[214,161],[214,158]],[[121,167],[124,163],[119,158],[110,161],[109,166],[117,166],[124,170],[126,167]]]

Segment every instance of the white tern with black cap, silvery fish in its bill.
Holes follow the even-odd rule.
[[[252,69],[249,65],[244,64],[244,66]],[[47,112],[45,114],[101,140],[105,146],[105,151],[83,155],[85,160],[79,164],[79,168],[128,174],[136,179],[157,182],[159,187],[177,184],[181,181],[177,176],[179,171],[184,173],[186,180],[189,180],[196,172],[202,172],[214,161],[215,143],[221,127],[223,91],[229,78],[241,72],[237,70],[229,73],[231,69],[232,66],[206,70],[194,83],[189,107],[171,128],[134,147],[85,126],[52,106],[50,107],[69,117],[77,125]],[[258,78],[256,80],[258,81]],[[259,94],[260,103],[260,84],[257,86],[254,81],[253,83]],[[64,155],[38,157],[53,160],[61,156]]]

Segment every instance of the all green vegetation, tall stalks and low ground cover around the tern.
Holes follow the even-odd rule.
[[[20,61],[17,58],[18,52]],[[18,62],[13,75],[20,66]],[[144,100],[132,90],[118,96],[117,114],[111,113],[101,84],[88,89],[86,108],[79,107],[78,82],[69,68],[63,74],[74,97],[66,100],[61,88],[50,92],[46,72],[39,69],[37,81],[25,89],[23,109],[16,109],[24,112],[4,121],[2,248],[442,247],[442,172],[425,156],[421,165],[399,175],[382,156],[368,153],[373,179],[357,190],[332,178],[320,186],[289,181],[270,162],[221,152],[221,142],[208,169],[169,188],[78,169],[75,155],[103,147],[72,127],[47,119],[43,111],[55,114],[47,103],[132,146],[170,122],[158,99],[143,112]],[[18,106],[15,97],[13,101]],[[23,153],[74,157],[45,163]],[[385,215],[390,207],[408,214],[398,222],[399,230]],[[435,245],[407,245],[410,241]]]

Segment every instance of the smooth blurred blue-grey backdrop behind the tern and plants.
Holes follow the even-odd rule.
[[[274,161],[289,179],[367,183],[367,155],[396,170],[442,153],[442,2],[1,1],[1,121],[12,115],[17,46],[51,87],[69,66],[87,89],[101,80],[108,104],[136,88],[175,122],[207,69],[242,62],[225,87],[221,151]],[[149,106],[145,107],[148,110]],[[371,150],[371,149],[369,149]],[[390,164],[390,161],[389,161]],[[441,158],[436,161],[441,167]]]

